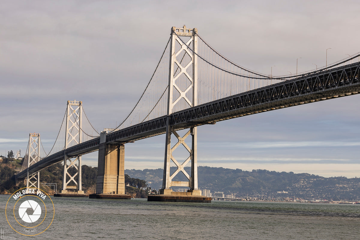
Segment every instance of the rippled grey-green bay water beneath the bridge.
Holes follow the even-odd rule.
[[[55,198],[51,226],[36,236],[13,231],[0,195],[3,239],[346,239],[360,240],[360,204],[258,201],[212,203]]]

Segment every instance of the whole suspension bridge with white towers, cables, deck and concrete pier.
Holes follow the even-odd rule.
[[[68,101],[53,148],[49,153],[40,149],[40,135],[31,133],[28,159],[16,177],[26,179],[27,187],[39,187],[39,171],[63,162],[62,192],[75,188],[81,194],[81,156],[99,151],[96,193],[124,194],[125,144],[165,134],[160,193],[175,194],[172,186],[184,186],[189,187],[186,194],[201,195],[197,181],[198,126],[358,94],[360,62],[355,59],[359,56],[355,54],[295,76],[271,76],[225,58],[202,39],[196,28],[172,27],[148,85],[117,128],[97,132],[82,102]],[[354,63],[348,64],[352,59]],[[185,135],[180,135],[179,130],[184,129]],[[174,140],[175,144],[171,144]],[[180,145],[188,152],[185,159],[175,159],[173,155]],[[190,164],[191,172],[187,173],[184,167]],[[170,172],[171,165],[177,167],[175,172]],[[69,173],[70,167],[76,168],[74,175]],[[187,181],[173,181],[179,172]]]

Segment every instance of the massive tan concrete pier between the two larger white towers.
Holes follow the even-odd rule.
[[[101,132],[96,193],[89,198],[130,199],[125,194],[125,145],[106,144],[106,131]]]

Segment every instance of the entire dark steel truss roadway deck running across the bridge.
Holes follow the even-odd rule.
[[[220,100],[198,105],[168,116],[176,130],[214,124],[230,118],[242,117],[279,108],[311,103],[314,101],[354,95],[360,92],[360,62],[319,71]],[[108,133],[108,144],[125,144],[165,133],[167,116],[152,119],[131,127]],[[99,149],[100,137],[83,142],[50,155],[30,166],[29,174],[35,173],[64,160],[64,155],[78,156]],[[18,173],[22,179],[27,170]]]

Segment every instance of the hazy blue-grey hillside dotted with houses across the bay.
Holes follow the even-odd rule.
[[[171,168],[171,172],[176,170]],[[185,167],[190,172],[190,167]],[[153,189],[162,187],[163,169],[125,170],[130,177],[144,179]],[[175,181],[185,181],[185,175],[176,176]],[[346,177],[321,177],[308,173],[275,172],[262,169],[243,171],[242,169],[198,167],[200,189],[237,196],[267,195],[296,196],[303,199],[360,200],[360,179]],[[288,193],[276,193],[285,191]]]

